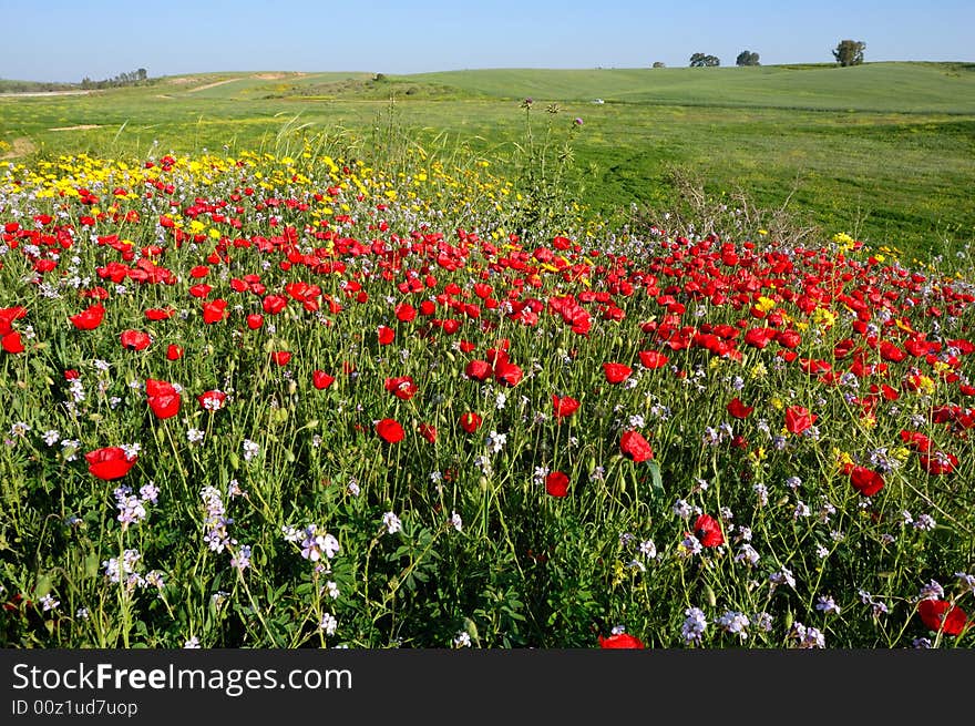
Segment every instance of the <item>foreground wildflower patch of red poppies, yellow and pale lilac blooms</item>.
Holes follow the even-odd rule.
[[[0,167],[3,642],[972,646],[967,247],[612,226],[540,153]]]

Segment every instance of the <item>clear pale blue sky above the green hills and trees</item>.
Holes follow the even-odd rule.
[[[828,62],[837,43],[868,61],[975,61],[975,1],[818,0],[0,0],[0,78],[80,81],[144,68],[420,73],[475,68]]]

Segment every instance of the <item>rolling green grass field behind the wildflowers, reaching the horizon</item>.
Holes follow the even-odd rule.
[[[526,96],[535,101],[536,139],[551,122],[561,140],[572,119],[583,119],[576,180],[583,201],[604,213],[675,206],[678,170],[718,198],[743,192],[763,208],[789,200],[802,224],[917,256],[973,238],[975,64],[476,70],[379,80],[209,73],[89,95],[0,98],[0,140],[16,150],[8,155],[144,156],[274,151],[279,132],[301,127],[346,133],[368,155],[393,115],[428,150],[469,147],[504,172],[525,137]],[[552,104],[557,115],[545,113]]]

